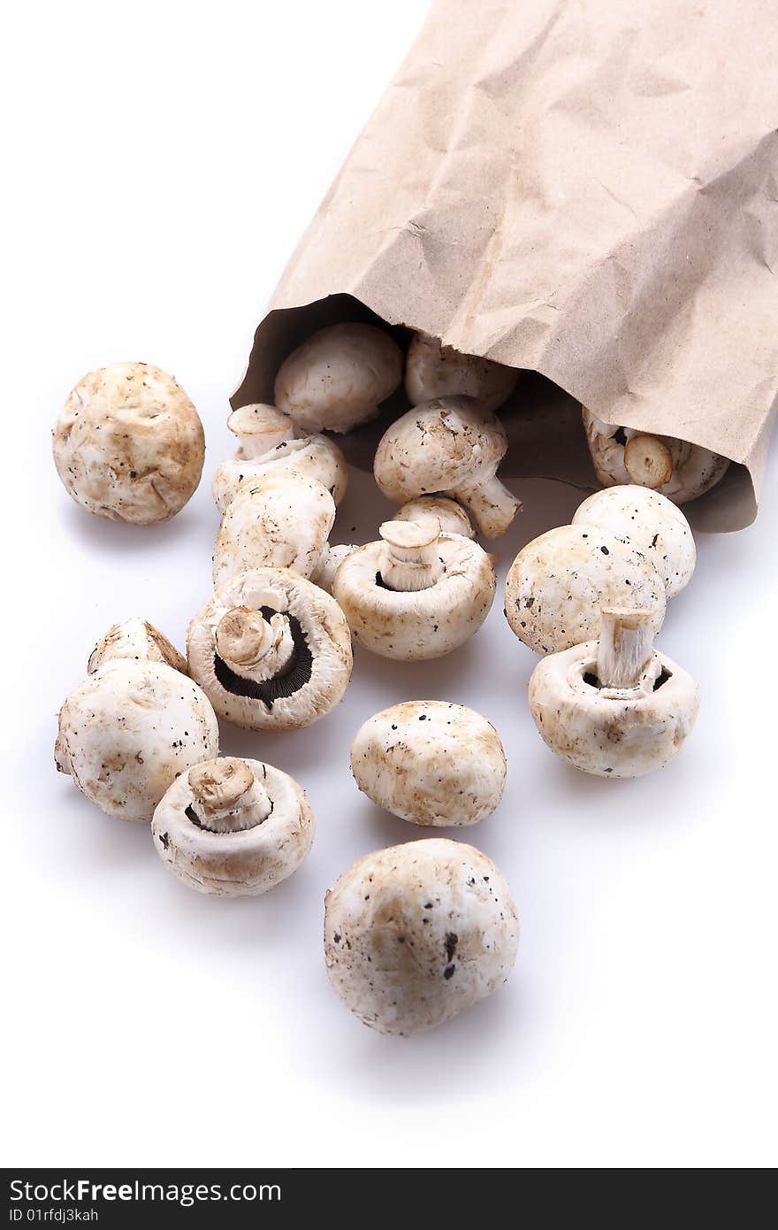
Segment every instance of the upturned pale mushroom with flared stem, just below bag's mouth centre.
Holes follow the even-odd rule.
[[[379,533],[382,541],[358,547],[333,582],[355,638],[404,662],[451,653],[489,614],[492,556],[461,534],[440,534],[435,517],[385,522]]]

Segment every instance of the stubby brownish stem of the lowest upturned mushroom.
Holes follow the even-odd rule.
[[[192,811],[209,833],[238,833],[267,820],[273,804],[245,760],[225,756],[189,770]]]

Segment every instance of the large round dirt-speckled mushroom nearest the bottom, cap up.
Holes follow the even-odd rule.
[[[519,918],[490,859],[444,838],[359,859],[324,898],[324,958],[347,1007],[380,1033],[422,1033],[498,990]]]

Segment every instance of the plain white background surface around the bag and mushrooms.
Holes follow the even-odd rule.
[[[71,0],[5,17],[6,1165],[776,1161],[774,453],[757,524],[701,539],[669,611],[661,645],[703,701],[659,776],[599,781],[551,755],[499,598],[442,662],[358,653],[345,700],[306,732],[224,727],[225,752],[293,772],[318,818],[311,857],[265,898],[188,892],[147,828],[54,771],[57,711],[100,633],[139,614],[181,646],[209,593],[227,395],[424,9]],[[119,359],[175,373],[206,428],[194,499],[146,530],[82,513],[49,455],[69,389]],[[520,493],[503,573],[579,498]],[[385,508],[355,478],[338,538],[371,538]],[[418,835],[348,771],[358,724],[412,697],[473,705],[503,736],[505,801],[467,836],[508,876],[522,938],[499,995],[403,1039],[338,1001],[321,927],[355,857]]]

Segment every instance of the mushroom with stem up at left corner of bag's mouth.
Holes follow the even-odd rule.
[[[238,448],[216,466],[213,496],[224,513],[246,478],[295,475],[316,478],[339,504],[348,486],[345,458],[334,440],[326,435],[295,435],[289,415],[275,406],[252,403],[235,410],[227,427],[237,435]]]

